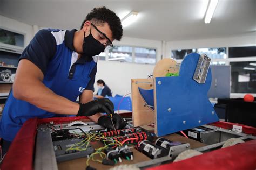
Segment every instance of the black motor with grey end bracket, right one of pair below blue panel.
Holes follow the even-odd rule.
[[[156,140],[156,145],[168,150],[168,155],[170,157],[176,157],[180,152],[190,149],[190,144],[180,143],[179,141],[170,141],[165,138],[158,138]]]

